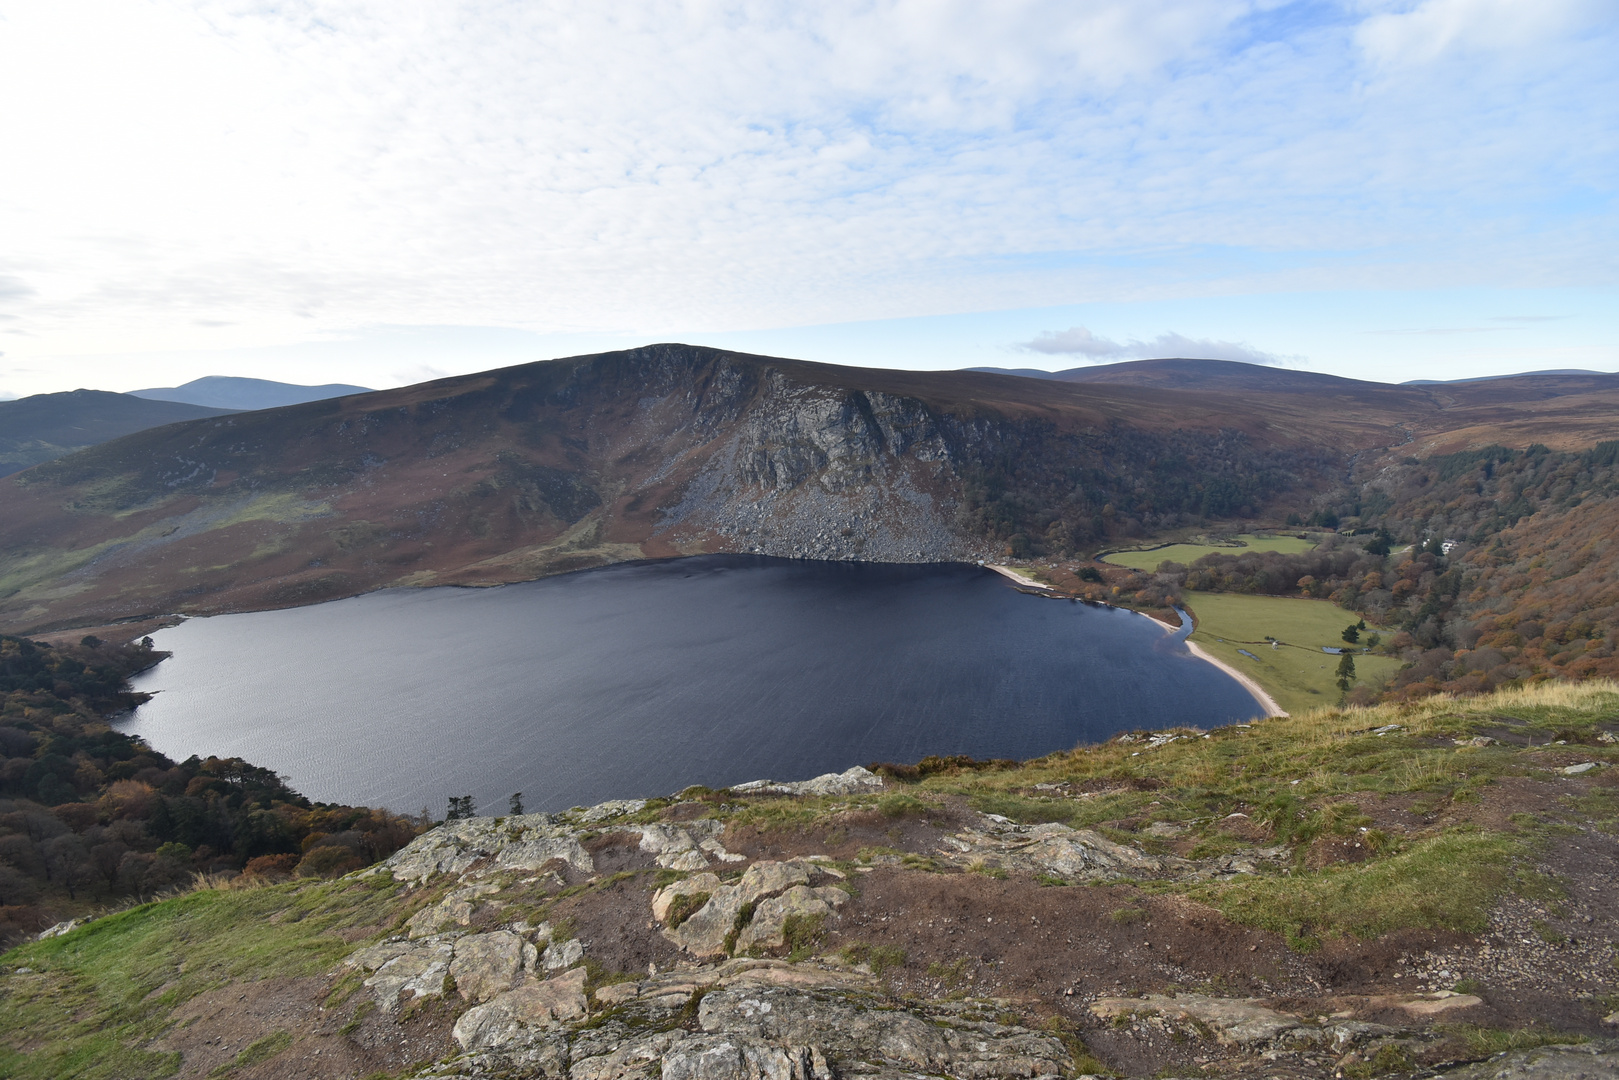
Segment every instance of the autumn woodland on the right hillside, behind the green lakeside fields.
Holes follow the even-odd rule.
[[[1182,589],[1310,596],[1394,627],[1378,651],[1402,669],[1353,703],[1619,677],[1616,495],[1619,442],[1405,458],[1311,508],[1341,531],[1316,551],[1166,562],[1122,591],[1143,607]]]

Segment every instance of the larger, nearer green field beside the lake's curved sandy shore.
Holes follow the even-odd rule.
[[[1187,593],[1185,602],[1196,619],[1192,640],[1209,656],[1226,661],[1264,687],[1289,712],[1323,704],[1337,704],[1337,657],[1321,646],[1342,646],[1344,627],[1358,620],[1328,601],[1290,599],[1285,596],[1247,596],[1242,593]],[[1371,627],[1362,631],[1389,631]],[[1273,649],[1266,635],[1285,641]],[[1258,641],[1260,644],[1247,644]],[[1287,646],[1303,648],[1287,648]],[[1243,656],[1247,649],[1253,656]],[[1255,659],[1258,657],[1258,659]],[[1376,683],[1399,670],[1392,656],[1355,656],[1357,685]]]

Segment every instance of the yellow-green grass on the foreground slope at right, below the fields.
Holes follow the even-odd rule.
[[[1229,814],[1285,842],[1295,861],[1285,873],[1245,874],[1222,882],[1148,884],[1190,895],[1227,918],[1284,934],[1298,949],[1326,938],[1376,938],[1400,929],[1478,933],[1504,889],[1533,887],[1525,857],[1548,823],[1517,816],[1506,829],[1470,821],[1480,792],[1509,776],[1553,779],[1533,750],[1507,745],[1455,746],[1504,724],[1549,740],[1566,738],[1579,756],[1619,764],[1619,748],[1595,733],[1619,711],[1619,685],[1541,683],[1467,701],[1430,698],[1417,704],[1321,709],[1185,737],[1158,750],[1111,742],[1052,755],[1017,769],[933,776],[920,792],[965,795],[973,806],[1017,821],[1099,827],[1128,821],[1185,826],[1193,857],[1243,847]],[[1378,733],[1376,729],[1400,730]],[[1083,797],[1038,793],[1036,784],[1065,784]],[[1431,826],[1387,834],[1366,811],[1397,800]],[[1587,803],[1606,803],[1588,797]],[[1611,806],[1569,806],[1611,816]],[[1353,837],[1371,852],[1363,863],[1311,870],[1318,840]]]

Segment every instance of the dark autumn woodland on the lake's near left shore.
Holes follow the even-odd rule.
[[[385,858],[427,823],[311,803],[240,758],[172,761],[107,717],[165,654],[86,636],[0,636],[0,946],[91,905],[196,874],[332,876]]]

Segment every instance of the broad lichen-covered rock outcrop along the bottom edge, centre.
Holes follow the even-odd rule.
[[[1065,1046],[1026,1028],[984,1020],[989,1002],[910,1002],[881,996],[869,975],[727,960],[596,993],[584,1018],[580,970],[521,986],[468,1010],[455,1025],[465,1054],[436,1077],[555,1080],[832,1080],[933,1075],[955,1080],[1057,1077]],[[708,991],[691,1031],[669,1009]],[[570,1018],[572,1017],[572,1018]]]

